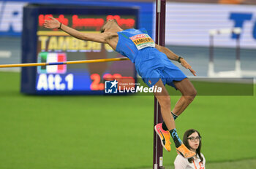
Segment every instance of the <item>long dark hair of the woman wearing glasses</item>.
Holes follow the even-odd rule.
[[[195,133],[195,132],[196,132],[196,133],[199,135],[199,137],[201,138],[200,133],[199,133],[197,130],[195,130],[195,129],[189,129],[189,130],[187,130],[187,131],[184,133],[184,135],[183,135],[183,143],[184,143],[185,146],[187,146],[188,149],[191,149],[191,147],[189,146],[189,141],[188,141],[187,138],[189,137],[189,135],[192,135],[192,133]],[[202,146],[202,141],[200,140],[200,141],[199,141],[199,146],[198,146],[196,152],[197,152],[197,154],[198,154],[198,156],[199,156],[199,158],[200,158],[200,160],[201,160],[200,162],[203,162],[203,157],[201,156],[201,146]],[[194,159],[193,159],[193,157],[192,157],[192,158],[189,158],[188,160],[189,160],[190,163],[192,163]]]

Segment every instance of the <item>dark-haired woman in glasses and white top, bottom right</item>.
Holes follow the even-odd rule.
[[[201,136],[195,129],[189,129],[184,133],[183,143],[188,149],[196,153],[195,157],[186,159],[181,154],[178,154],[174,161],[176,169],[206,169],[206,159],[201,151]]]

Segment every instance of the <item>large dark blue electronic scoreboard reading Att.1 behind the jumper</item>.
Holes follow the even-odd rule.
[[[138,28],[138,9],[69,7],[29,4],[23,9],[23,63],[123,58],[108,44],[75,39],[59,29],[43,27],[55,17],[62,24],[86,33],[100,33],[106,20],[116,19],[123,28]],[[21,92],[27,94],[103,94],[104,80],[136,82],[130,60],[22,68]]]

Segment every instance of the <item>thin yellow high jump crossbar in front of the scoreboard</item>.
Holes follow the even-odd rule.
[[[75,60],[66,62],[51,62],[51,63],[18,63],[18,64],[5,64],[0,65],[0,68],[13,68],[13,67],[31,67],[31,66],[52,66],[52,65],[71,65],[80,63],[100,63],[100,62],[113,62],[129,60],[129,58],[109,58],[109,59],[93,59],[93,60]]]

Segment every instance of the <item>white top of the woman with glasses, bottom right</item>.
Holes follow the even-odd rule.
[[[197,154],[197,156],[194,157],[194,162],[190,163],[189,160],[178,154],[174,161],[174,167],[175,169],[206,169],[206,158],[202,153],[201,156],[203,157],[203,162],[200,162],[200,158]]]

